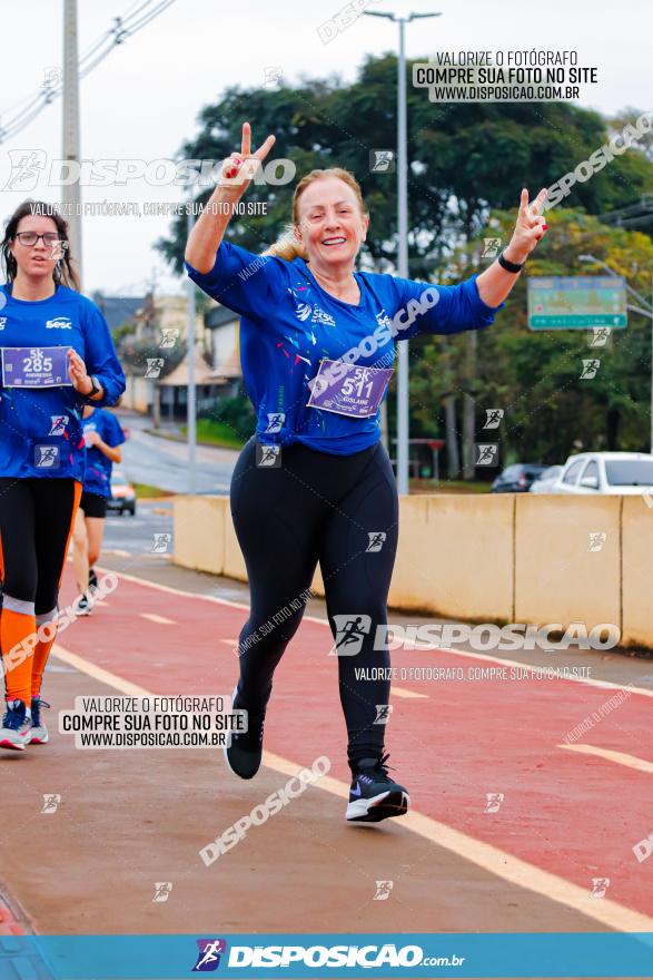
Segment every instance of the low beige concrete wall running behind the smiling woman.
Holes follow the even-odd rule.
[[[434,494],[399,506],[390,606],[462,621],[609,623],[623,645],[653,648],[653,509],[641,497]],[[175,561],[247,580],[226,497],[175,501]],[[324,595],[319,568],[313,589]]]

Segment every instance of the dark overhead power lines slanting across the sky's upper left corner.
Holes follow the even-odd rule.
[[[128,38],[138,33],[138,31],[142,30],[144,27],[147,27],[148,23],[151,23],[152,20],[176,2],[177,0],[145,0],[145,2],[138,3],[137,0],[137,3],[132,3],[127,13],[122,17],[113,18],[113,27],[100,38],[96,39],[90,48],[88,48],[80,57],[78,62],[80,80],[90,75],[90,72],[111,53],[117,45],[123,43]],[[158,6],[152,7],[152,3],[158,3]],[[136,9],[133,9],[135,7]],[[149,10],[147,8],[149,8]],[[141,13],[141,11],[145,12],[139,18],[138,14]],[[102,48],[103,50],[100,50]],[[93,58],[98,51],[99,53],[90,61],[90,63],[85,63]],[[23,108],[12,116],[4,125],[2,125],[2,117],[0,117],[0,144],[18,136],[26,126],[29,126],[29,124],[37,118],[46,106],[49,106],[50,102],[61,95],[62,90],[63,84],[60,79],[55,85],[46,81],[36,94],[27,96],[11,107],[11,109],[8,110],[9,112],[13,111],[19,106],[23,106]],[[4,114],[4,117],[6,116],[7,112]]]

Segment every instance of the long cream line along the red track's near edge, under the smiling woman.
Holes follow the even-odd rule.
[[[115,687],[116,690],[120,690],[122,694],[130,694],[135,697],[155,696],[154,692],[146,690],[145,687],[139,687],[118,674],[111,674],[102,667],[97,667],[95,664],[85,660],[83,657],[79,657],[77,654],[60,647],[59,644],[52,646],[52,653],[71,667],[77,667],[78,670],[82,670],[109,687]],[[274,755],[271,752],[264,752],[263,764],[267,768],[288,776],[297,775],[303,768],[298,763],[283,758],[280,755]],[[349,798],[349,786],[339,780],[332,778],[332,776],[321,776],[315,786],[342,800]],[[409,811],[405,816],[400,817],[400,824],[396,826],[397,831],[407,830],[418,834],[438,847],[444,847],[446,851],[456,854],[464,861],[471,861],[483,871],[494,874],[496,878],[501,878],[517,888],[543,895],[543,898],[552,902],[566,905],[568,909],[586,915],[587,919],[601,922],[602,925],[607,925],[610,929],[621,932],[653,932],[652,917],[645,915],[643,912],[635,912],[625,905],[620,905],[619,902],[613,902],[611,899],[601,899],[598,903],[596,899],[592,898],[590,889],[581,888],[566,881],[564,878],[560,878],[557,874],[543,871],[534,864],[528,864],[526,861],[514,857],[512,854],[501,851],[492,844],[477,841],[475,837],[462,833],[462,831],[447,826],[447,824],[432,820],[429,816],[424,816],[415,811]]]

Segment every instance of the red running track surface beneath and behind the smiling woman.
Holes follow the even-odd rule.
[[[156,694],[228,697],[247,609],[119,576],[107,605],[60,634],[90,663]],[[61,605],[75,596],[67,567]],[[165,617],[172,625],[148,620]],[[348,782],[337,661],[326,624],[304,619],[275,675],[266,748],[310,765],[326,754]],[[492,666],[439,650],[400,649],[398,667]],[[587,891],[611,879],[610,899],[653,915],[653,860],[633,846],[653,831],[651,773],[558,747],[614,689],[568,680],[398,680],[427,695],[393,697],[387,744],[413,807]],[[632,694],[582,743],[653,763],[652,699]],[[503,793],[497,813],[486,794]]]

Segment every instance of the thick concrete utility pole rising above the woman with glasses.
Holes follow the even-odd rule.
[[[73,164],[76,179],[61,192],[68,222],[70,253],[81,283],[81,188],[79,186],[79,74],[77,52],[77,0],[63,0],[63,138],[62,157]]]

